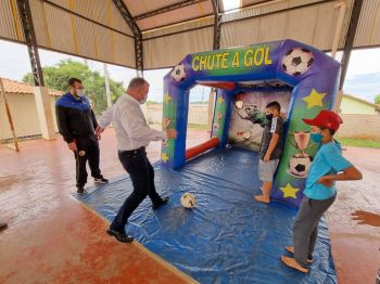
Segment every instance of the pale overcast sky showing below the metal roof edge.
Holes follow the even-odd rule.
[[[73,59],[84,62],[80,57],[39,50],[41,65],[51,66],[63,59]],[[186,54],[183,54],[185,56]],[[340,60],[341,54],[338,54]],[[103,74],[103,64],[89,61],[89,67]],[[162,101],[163,77],[169,69],[148,70],[144,77],[151,82],[150,100]],[[0,77],[22,80],[23,76],[30,72],[27,49],[25,46],[0,40]],[[136,72],[125,67],[109,65],[112,79],[127,85]],[[204,91],[201,88],[192,92],[200,100]],[[367,101],[373,102],[376,94],[380,93],[380,49],[367,49],[353,51],[350,67],[344,85],[344,92]]]

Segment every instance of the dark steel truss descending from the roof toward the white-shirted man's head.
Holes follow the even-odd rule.
[[[124,17],[127,25],[130,27],[130,29],[134,33],[135,36],[135,62],[136,62],[136,70],[137,76],[143,77],[143,52],[142,52],[142,34],[137,25],[136,21],[134,20],[132,15],[130,14],[129,10],[125,5],[123,0],[113,0],[116,8],[121,12],[122,16]]]

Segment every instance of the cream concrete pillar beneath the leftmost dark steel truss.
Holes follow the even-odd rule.
[[[42,138],[53,140],[56,138],[54,131],[53,113],[51,108],[51,96],[47,87],[34,87],[37,114]]]

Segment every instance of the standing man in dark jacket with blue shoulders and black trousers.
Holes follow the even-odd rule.
[[[94,133],[98,122],[89,101],[84,96],[84,86],[76,78],[71,78],[68,85],[69,92],[55,104],[56,121],[60,133],[75,155],[77,193],[84,194],[84,186],[87,183],[87,160],[96,182],[109,181],[103,178],[99,169],[99,142]]]

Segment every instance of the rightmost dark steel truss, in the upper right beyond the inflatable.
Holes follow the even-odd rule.
[[[354,0],[354,5],[352,9],[351,18],[350,18],[350,25],[349,25],[347,34],[344,40],[343,56],[341,61],[342,72],[341,72],[341,79],[339,82],[339,90],[343,89],[345,75],[349,68],[351,51],[354,46],[357,24],[360,17],[362,7],[363,7],[363,0]]]

